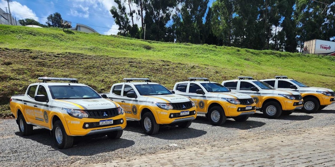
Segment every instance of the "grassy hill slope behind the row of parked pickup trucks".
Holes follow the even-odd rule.
[[[241,75],[287,75],[335,89],[334,61],[331,56],[0,25],[0,112],[8,109],[5,97],[24,93],[39,76],[76,77],[98,92],[108,92],[124,77],[150,77],[171,89],[191,76],[220,83]]]

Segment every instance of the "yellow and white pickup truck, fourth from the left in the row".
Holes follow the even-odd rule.
[[[236,80],[226,80],[222,85],[232,92],[240,92],[253,97],[257,109],[267,118],[290,115],[293,110],[303,108],[302,96],[294,91],[277,90],[269,84],[250,76],[239,76]]]

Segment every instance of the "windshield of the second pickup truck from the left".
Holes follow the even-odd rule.
[[[159,84],[141,84],[141,85],[135,85],[135,88],[142,96],[172,94],[168,89]]]

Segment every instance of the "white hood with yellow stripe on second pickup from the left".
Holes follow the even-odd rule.
[[[190,102],[188,97],[182,95],[155,95],[155,96],[143,96],[146,101],[150,100],[157,103],[184,103]]]

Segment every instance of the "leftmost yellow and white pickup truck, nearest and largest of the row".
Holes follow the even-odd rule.
[[[75,78],[38,79],[43,82],[10,98],[10,110],[22,135],[32,134],[33,126],[49,129],[60,149],[72,147],[73,136],[101,133],[112,139],[121,137],[127,121],[120,105]]]

